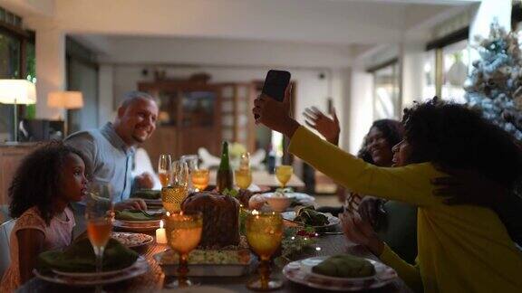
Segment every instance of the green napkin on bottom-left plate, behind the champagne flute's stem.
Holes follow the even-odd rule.
[[[138,253],[126,248],[119,241],[109,240],[103,254],[103,271],[125,269],[138,260]],[[36,269],[48,272],[56,269],[66,272],[96,271],[96,257],[91,241],[84,238],[75,241],[63,251],[45,251],[36,260]]]

